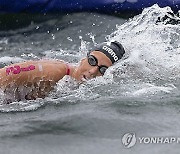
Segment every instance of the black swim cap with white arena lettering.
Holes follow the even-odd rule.
[[[125,53],[123,46],[117,41],[104,42],[96,46],[92,51],[104,53],[111,60],[112,64],[121,59]]]

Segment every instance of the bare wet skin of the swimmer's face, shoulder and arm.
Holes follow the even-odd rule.
[[[91,55],[97,58],[98,66],[112,66],[111,60],[105,54],[93,51]],[[81,59],[79,66],[68,65],[69,75],[80,83],[102,76],[98,66],[91,66],[87,57]],[[40,70],[41,67],[42,70]],[[12,64],[0,69],[0,87],[4,92],[11,93],[12,91],[13,94],[16,91],[17,100],[21,100],[18,91],[23,86],[32,89],[25,95],[25,99],[44,98],[53,90],[56,83],[66,75],[67,69],[67,63],[59,60],[26,61]]]

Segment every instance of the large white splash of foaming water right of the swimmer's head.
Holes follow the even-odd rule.
[[[168,24],[173,15],[169,7],[154,5],[144,9],[107,36],[126,49],[124,59],[108,69],[104,77],[88,81],[85,98],[106,99],[112,96],[159,99],[167,94],[179,95],[180,88],[180,24]],[[166,20],[163,20],[168,16]],[[85,90],[86,91],[86,90]],[[91,92],[88,92],[91,91]],[[76,93],[77,94],[77,93]],[[80,91],[79,95],[84,93]],[[96,96],[88,97],[88,96]]]

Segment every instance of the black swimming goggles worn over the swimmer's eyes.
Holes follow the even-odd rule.
[[[97,58],[96,58],[95,56],[93,56],[93,55],[88,54],[88,55],[87,55],[87,59],[88,59],[89,65],[91,65],[91,66],[98,66],[99,72],[100,72],[102,75],[104,75],[104,73],[105,73],[106,70],[108,69],[107,66],[105,66],[105,65],[100,65],[100,66],[99,66],[99,65],[98,65],[98,60],[97,60]]]

